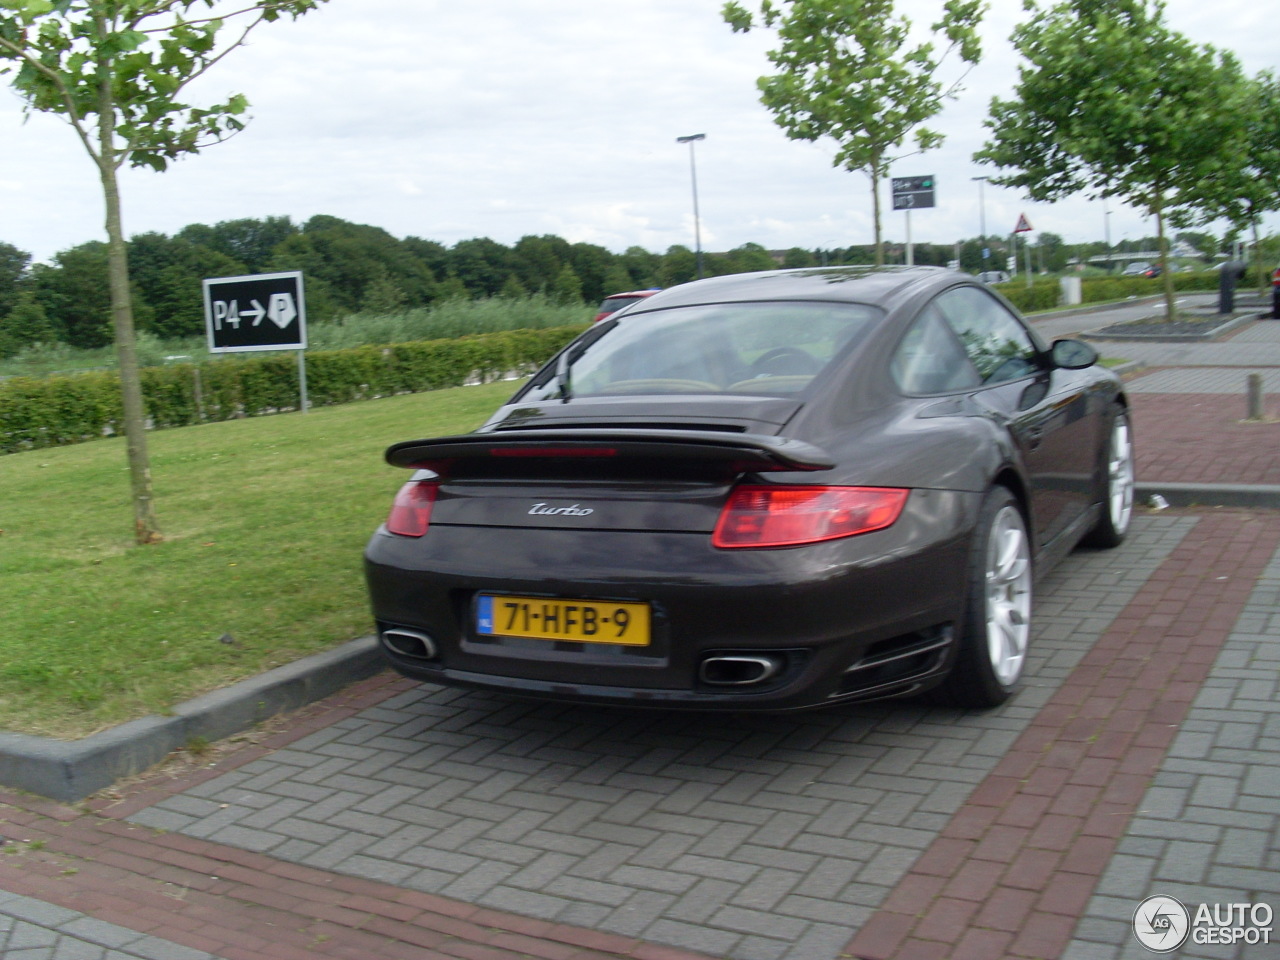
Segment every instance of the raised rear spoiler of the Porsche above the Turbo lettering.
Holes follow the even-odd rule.
[[[462,434],[428,440],[408,440],[387,449],[387,462],[394,467],[431,470],[442,476],[493,472],[483,465],[517,462],[549,465],[558,462],[659,462],[704,465],[717,472],[831,470],[831,454],[801,440],[760,434],[721,433],[717,430],[617,429],[534,429],[518,435]],[[506,472],[506,471],[504,471]]]

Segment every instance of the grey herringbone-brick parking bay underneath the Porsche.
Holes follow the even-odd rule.
[[[991,713],[726,719],[416,686],[131,819],[719,956],[831,957],[1187,527],[1073,558],[1036,681]]]

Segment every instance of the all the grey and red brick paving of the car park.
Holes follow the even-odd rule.
[[[1203,374],[1133,380],[1139,479],[1274,483]],[[1033,650],[970,714],[663,717],[384,675],[211,768],[77,808],[0,794],[0,956],[1114,960],[1151,956],[1149,893],[1280,909],[1280,513],[1143,513],[1046,580]]]

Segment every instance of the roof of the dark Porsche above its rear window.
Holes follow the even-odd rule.
[[[767,300],[845,301],[891,307],[904,296],[931,287],[973,283],[941,266],[832,266],[730,274],[671,287],[627,311],[628,316],[694,303]]]

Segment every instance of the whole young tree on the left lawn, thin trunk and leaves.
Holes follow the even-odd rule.
[[[27,111],[61,116],[97,168],[106,207],[111,324],[137,543],[161,539],[156,521],[146,412],[138,376],[129,268],[118,174],[124,164],[164,170],[242,129],[242,95],[195,108],[178,100],[197,77],[264,22],[294,19],[324,0],[247,0],[227,17],[188,19],[211,0],[4,0],[0,64]],[[233,38],[219,42],[237,20]]]

